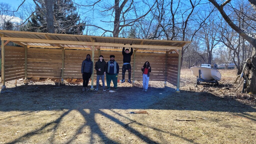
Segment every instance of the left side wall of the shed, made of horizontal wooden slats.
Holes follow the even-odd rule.
[[[25,48],[5,46],[5,81],[25,76]]]

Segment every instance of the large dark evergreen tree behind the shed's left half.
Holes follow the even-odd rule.
[[[44,4],[40,4],[41,8],[45,9]],[[83,34],[83,30],[85,29],[85,23],[80,22],[80,16],[78,15],[76,10],[77,9],[73,5],[73,2],[71,0],[54,1],[53,11],[55,33],[77,35]],[[40,11],[38,7],[36,7],[36,11]],[[41,12],[37,12],[31,17],[31,19],[22,28],[22,30],[47,33],[47,23],[45,16]]]

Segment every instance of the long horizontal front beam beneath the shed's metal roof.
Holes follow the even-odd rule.
[[[18,42],[30,43],[46,43],[46,44],[66,44],[66,45],[95,45],[106,47],[123,47],[124,44],[116,43],[93,43],[93,42],[79,42],[79,41],[65,41],[65,40],[48,40],[48,39],[33,39],[33,38],[16,38],[16,37],[2,37],[2,40],[15,40]],[[160,46],[160,45],[132,45],[133,48],[150,48],[150,49],[182,49],[176,46]]]

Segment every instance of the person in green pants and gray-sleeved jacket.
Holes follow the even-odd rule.
[[[107,62],[107,68],[108,68],[108,70],[106,73],[106,81],[107,81],[107,89],[106,90],[110,89],[111,80],[113,81],[115,90],[117,90],[117,77],[118,77],[118,73],[119,73],[119,65],[115,61],[114,55],[110,55],[110,61]]]

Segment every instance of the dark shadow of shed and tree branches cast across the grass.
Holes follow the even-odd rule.
[[[142,92],[142,88],[139,87],[119,87],[117,92],[103,92],[100,90],[82,92],[81,89],[82,86],[62,85],[61,87],[56,87],[54,85],[26,85],[1,90],[0,111],[2,112],[29,111],[31,113],[33,111],[42,110],[67,110],[56,120],[49,122],[36,130],[28,132],[9,143],[25,141],[51,124],[54,125],[53,129],[56,130],[63,117],[68,115],[72,110],[78,110],[87,121],[77,129],[76,134],[81,133],[84,127],[89,126],[91,129],[91,143],[94,142],[94,134],[101,137],[104,143],[118,143],[110,139],[101,130],[98,122],[95,120],[95,115],[97,114],[104,115],[106,118],[122,126],[147,143],[158,143],[150,137],[143,135],[136,129],[125,126],[124,122],[120,119],[106,114],[102,109],[158,109],[235,112],[256,122],[255,116],[247,113],[256,112],[255,108],[244,105],[234,99],[223,99],[208,92],[180,91],[180,93],[175,93],[175,89],[170,87],[150,87],[148,88],[148,92]],[[90,113],[86,113],[84,109],[89,109]],[[119,113],[115,112],[115,114],[124,117],[125,119],[129,119]],[[148,126],[144,127],[146,128]],[[164,133],[170,133],[157,128],[153,129]],[[170,135],[179,137],[188,142],[196,143],[193,140],[182,137],[181,135],[174,133],[170,133]],[[72,143],[74,140],[75,137],[71,137],[65,143]],[[50,138],[50,141],[54,142],[54,136]]]

